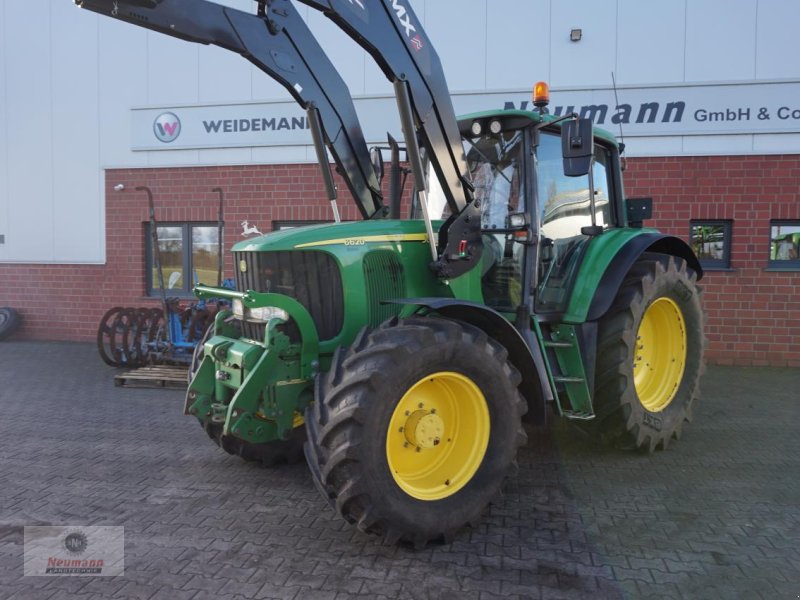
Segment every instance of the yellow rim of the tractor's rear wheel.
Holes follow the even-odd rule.
[[[636,334],[633,382],[650,412],[669,406],[686,368],[686,324],[678,305],[658,298],[647,307]]]

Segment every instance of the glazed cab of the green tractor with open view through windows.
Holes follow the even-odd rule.
[[[591,132],[582,166],[565,155],[577,125],[567,131],[564,123]],[[591,129],[588,120],[515,110],[466,115],[459,129],[480,203],[484,301],[514,313],[527,301],[523,290],[531,289],[535,312],[564,312],[589,242],[624,226],[614,138]],[[446,219],[442,186],[431,173],[428,168],[429,212]],[[527,273],[531,285],[524,282]]]

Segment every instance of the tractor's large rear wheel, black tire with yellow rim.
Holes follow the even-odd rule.
[[[617,447],[666,449],[700,395],[703,310],[683,259],[644,254],[599,322],[595,414]]]

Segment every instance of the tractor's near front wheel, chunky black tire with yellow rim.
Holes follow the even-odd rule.
[[[505,348],[471,325],[393,319],[337,350],[306,411],[306,459],[364,532],[423,546],[476,521],[516,469],[527,410]]]

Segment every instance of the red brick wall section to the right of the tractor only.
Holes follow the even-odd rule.
[[[701,282],[710,362],[800,366],[800,272],[765,270],[770,220],[800,219],[800,156],[631,159],[625,192],[652,196],[647,224],[684,239],[690,219],[733,221],[733,270]]]

